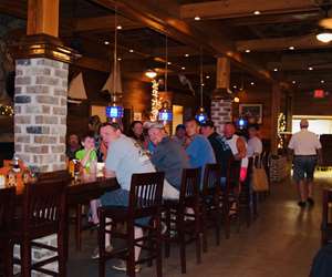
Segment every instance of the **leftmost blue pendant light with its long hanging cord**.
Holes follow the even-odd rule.
[[[117,81],[117,9],[114,17],[114,57],[113,57],[113,92],[111,92],[111,104],[106,106],[106,116],[115,122],[123,117],[123,106],[118,103],[121,92],[116,91]]]

